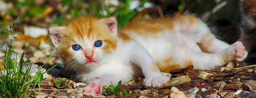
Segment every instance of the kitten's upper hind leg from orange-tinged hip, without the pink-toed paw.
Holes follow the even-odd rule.
[[[181,20],[188,21],[182,22]],[[209,27],[193,15],[184,15],[182,19],[176,20],[175,23],[178,24],[175,26],[175,31],[180,32],[187,43],[197,43],[203,52],[216,53],[229,47],[229,44],[215,38]]]

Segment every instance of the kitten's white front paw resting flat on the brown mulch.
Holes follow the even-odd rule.
[[[170,80],[170,77],[162,75],[159,73],[151,74],[144,79],[145,86],[152,86],[152,87],[160,87],[165,85],[166,82]]]

